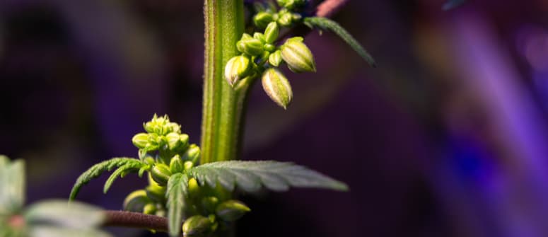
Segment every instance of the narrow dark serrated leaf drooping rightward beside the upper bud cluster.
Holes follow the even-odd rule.
[[[358,40],[356,40],[348,31],[344,30],[339,23],[332,21],[330,18],[325,17],[307,17],[304,20],[304,24],[308,25],[310,28],[319,28],[321,30],[330,30],[350,45],[354,51],[356,51],[371,67],[377,67],[375,59],[365,50]]]

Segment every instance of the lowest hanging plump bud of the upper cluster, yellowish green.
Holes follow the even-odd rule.
[[[278,69],[269,68],[263,72],[262,88],[274,103],[280,105],[282,108],[286,109],[287,105],[291,103],[291,98],[293,98],[291,85],[287,81],[286,76]]]

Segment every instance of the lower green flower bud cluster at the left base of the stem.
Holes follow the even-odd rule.
[[[124,209],[166,216],[168,180],[175,173],[186,173],[197,166],[200,148],[189,144],[188,135],[182,134],[180,125],[170,122],[167,115],[154,115],[143,127],[146,133],[136,134],[132,141],[139,148],[141,160],[146,163],[148,185],[127,195]],[[245,204],[229,200],[226,191],[219,189],[222,189],[220,185],[209,187],[200,185],[194,178],[188,180],[184,210],[187,219],[182,224],[184,236],[206,236],[219,226],[223,229],[230,226],[232,221],[250,212]]]

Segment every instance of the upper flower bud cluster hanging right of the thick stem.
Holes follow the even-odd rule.
[[[284,74],[276,69],[283,62],[295,73],[315,72],[316,65],[310,49],[304,44],[303,37],[291,37],[277,46],[281,27],[291,27],[301,23],[301,14],[296,12],[308,3],[307,0],[278,0],[280,9],[272,2],[255,3],[257,14],[253,23],[262,33],[253,35],[244,33],[236,43],[240,55],[228,60],[225,67],[225,79],[231,86],[238,81],[262,76],[262,88],[274,103],[286,109],[293,92]]]

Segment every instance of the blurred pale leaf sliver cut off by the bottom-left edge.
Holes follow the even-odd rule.
[[[54,226],[31,226],[29,237],[112,237],[110,233],[95,229],[64,229]]]

